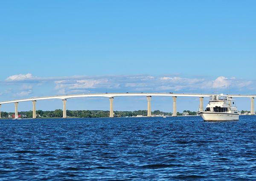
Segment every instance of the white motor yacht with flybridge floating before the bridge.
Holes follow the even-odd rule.
[[[239,111],[235,100],[228,95],[211,95],[206,108],[200,107],[198,114],[204,121],[238,121]]]

